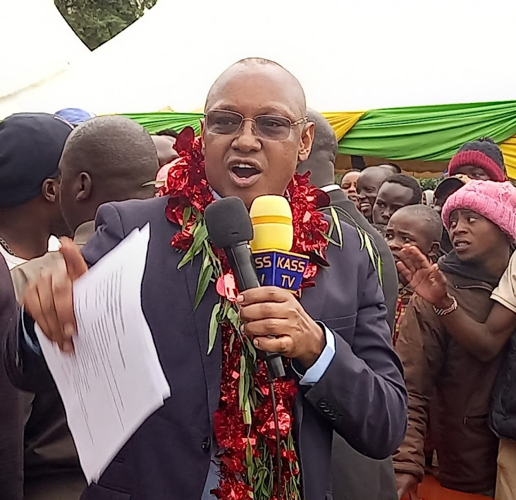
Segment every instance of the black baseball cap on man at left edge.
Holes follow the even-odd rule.
[[[29,202],[58,164],[72,125],[47,113],[16,113],[0,122],[0,206]]]

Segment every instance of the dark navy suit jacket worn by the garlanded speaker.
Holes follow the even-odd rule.
[[[208,356],[208,324],[218,300],[214,287],[193,311],[200,259],[178,271],[182,258],[170,246],[180,228],[166,220],[166,198],[102,206],[97,232],[83,254],[89,265],[133,228],[149,221],[151,239],[142,283],[142,307],[153,333],[171,398],[123,446],[83,500],[199,500],[206,481],[219,405],[221,345]],[[407,393],[391,348],[383,294],[356,231],[343,227],[342,250],[330,246],[329,270],[303,292],[313,318],[335,334],[336,353],[321,380],[301,387],[294,408],[306,500],[331,499],[332,431],[376,458],[396,450],[405,435]],[[25,318],[27,320],[28,318]],[[16,353],[21,362],[17,364]],[[6,356],[13,380],[42,384],[44,362],[12,334]]]

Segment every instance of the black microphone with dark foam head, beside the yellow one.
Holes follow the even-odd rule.
[[[259,287],[249,246],[253,236],[252,226],[244,202],[236,196],[219,199],[206,207],[204,219],[213,245],[226,252],[238,291]],[[264,352],[264,360],[272,378],[285,376],[281,354]]]

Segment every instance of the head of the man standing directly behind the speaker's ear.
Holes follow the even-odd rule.
[[[298,173],[310,171],[310,181],[318,188],[334,184],[334,167],[338,143],[332,126],[321,113],[307,111],[308,120],[315,124],[314,142],[308,160],[297,166]]]

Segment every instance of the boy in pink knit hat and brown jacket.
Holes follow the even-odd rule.
[[[482,362],[455,339],[447,316],[460,307],[473,323],[484,323],[490,296],[504,273],[516,237],[516,188],[510,183],[471,181],[449,197],[442,210],[453,251],[438,265],[451,301],[420,296],[422,273],[400,252],[398,263],[418,294],[402,320],[396,351],[405,367],[409,428],[394,457],[398,494],[417,490],[423,477],[423,440],[428,401],[435,395],[432,437],[445,488],[493,497],[498,439],[488,426],[491,392],[502,354]],[[414,249],[415,250],[415,249]],[[423,261],[424,259],[421,259]],[[442,299],[442,297],[441,297]],[[433,392],[435,389],[435,393]]]

